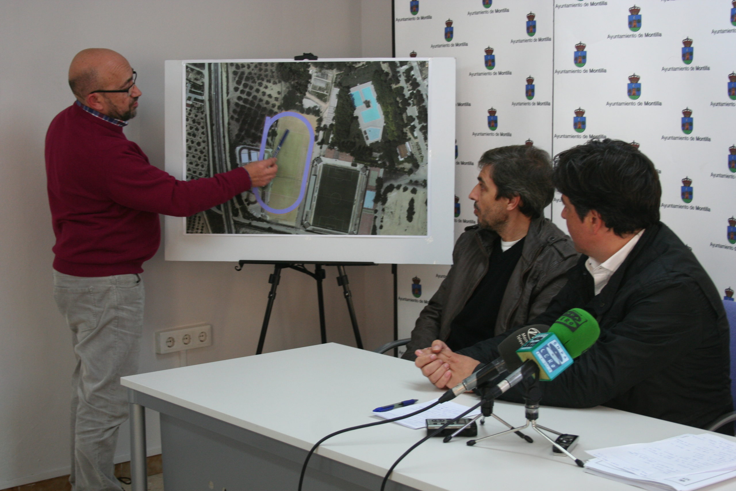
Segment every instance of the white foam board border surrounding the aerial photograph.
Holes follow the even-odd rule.
[[[455,187],[455,59],[335,58],[320,61],[429,62],[428,235],[200,235],[185,233],[185,219],[166,216],[167,261],[339,261],[378,264],[452,264]],[[184,179],[183,86],[185,63],[294,62],[294,60],[166,60],[166,172]]]

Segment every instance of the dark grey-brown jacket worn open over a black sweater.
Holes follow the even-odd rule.
[[[486,275],[488,259],[497,233],[473,225],[459,237],[453,250],[453,266],[447,278],[420,313],[411,341],[402,358],[414,360],[415,350],[431,346],[435,339],[450,336],[453,319]],[[512,272],[498,310],[495,333],[528,324],[542,314],[550,300],[565,285],[565,272],[577,259],[573,241],[545,218],[529,225],[521,258]]]

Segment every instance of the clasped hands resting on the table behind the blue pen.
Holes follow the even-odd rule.
[[[437,339],[431,347],[414,352],[414,364],[439,389],[450,389],[473,373],[480,363],[470,356],[460,355],[450,350],[444,342]]]

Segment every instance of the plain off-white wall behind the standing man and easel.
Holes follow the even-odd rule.
[[[51,230],[43,139],[73,102],[68,63],[80,49],[107,47],[138,71],[138,117],[126,129],[163,164],[163,60],[391,55],[389,0],[24,0],[0,4],[0,490],[68,473],[70,335],[52,299]],[[156,355],[153,332],[213,325],[214,345],[197,364],[255,353],[269,266],[144,265],[146,318],[141,371],[177,367]],[[364,344],[392,333],[390,266],[348,268]],[[352,345],[335,268],[325,282],[328,339]],[[283,273],[266,351],[319,342],[314,281]],[[155,422],[154,422],[155,423]],[[155,430],[155,424],[153,425]],[[127,436],[118,461],[127,453]],[[152,437],[152,447],[158,440]]]

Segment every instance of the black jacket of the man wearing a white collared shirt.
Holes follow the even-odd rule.
[[[698,428],[731,411],[726,312],[672,230],[661,222],[648,227],[598,295],[586,260],[570,269],[565,288],[530,324],[551,325],[580,307],[598,320],[601,337],[555,380],[542,382],[542,404],[602,404]],[[459,353],[490,361],[503,337]],[[504,398],[520,402],[522,394],[512,389]]]

